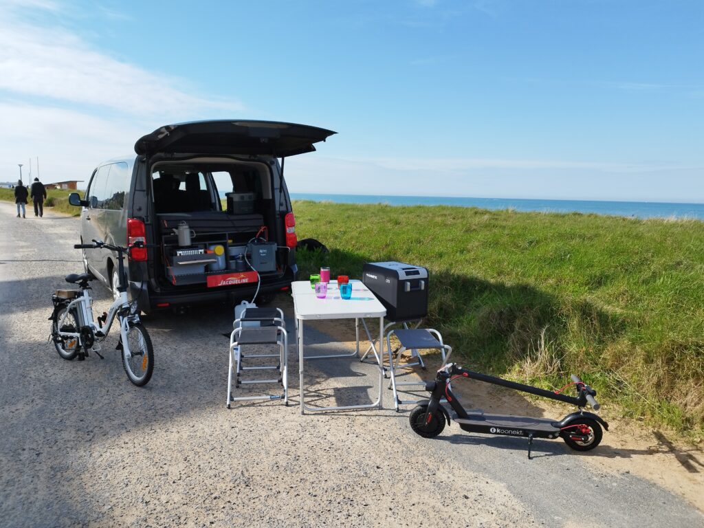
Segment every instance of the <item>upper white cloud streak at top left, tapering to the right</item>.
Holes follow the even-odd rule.
[[[184,80],[153,73],[91,49],[61,27],[39,27],[18,7],[57,9],[50,1],[0,4],[0,90],[132,115],[242,111],[239,101],[214,101],[178,89]],[[23,12],[23,11],[22,11]]]

